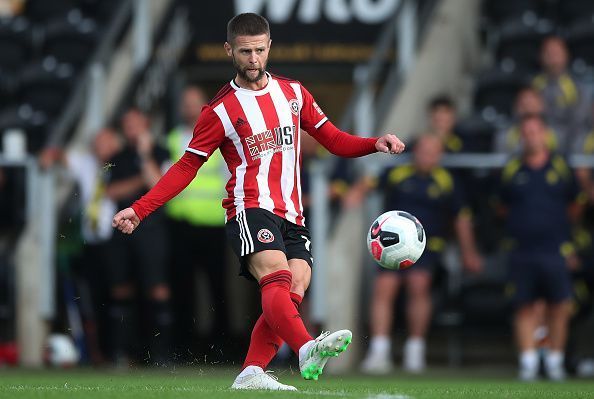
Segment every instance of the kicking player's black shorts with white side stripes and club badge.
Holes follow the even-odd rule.
[[[311,237],[305,226],[289,222],[265,209],[249,208],[225,225],[227,240],[240,260],[239,275],[255,280],[247,265],[247,256],[265,250],[283,251],[290,259],[303,259],[313,266]]]

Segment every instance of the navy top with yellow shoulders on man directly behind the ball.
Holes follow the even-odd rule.
[[[452,218],[466,209],[460,185],[442,167],[429,174],[418,173],[413,165],[386,169],[379,189],[384,193],[384,209],[412,213],[429,238],[445,238]]]

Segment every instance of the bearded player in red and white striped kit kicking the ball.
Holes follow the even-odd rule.
[[[262,315],[232,388],[296,390],[265,372],[283,341],[298,355],[301,375],[316,380],[328,358],[352,339],[348,330],[313,339],[299,316],[313,263],[301,202],[301,129],[343,157],[400,153],[404,144],[391,134],[360,138],[337,129],[299,82],[266,71],[270,45],[263,17],[246,13],[229,21],[224,47],[237,75],[204,107],[181,159],[149,193],[118,212],[113,226],[132,233],[220,149],[231,172],[223,200],[227,236],[241,260],[240,274],[255,279],[262,296]]]

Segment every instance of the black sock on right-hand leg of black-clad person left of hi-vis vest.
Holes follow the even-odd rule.
[[[173,315],[171,314],[169,301],[153,299],[150,306],[153,331],[151,334],[152,353],[149,363],[162,364],[169,360]]]

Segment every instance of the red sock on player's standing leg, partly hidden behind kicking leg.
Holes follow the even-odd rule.
[[[290,293],[291,301],[295,309],[299,310],[302,298],[300,295],[294,292]],[[254,329],[252,330],[252,338],[250,339],[250,348],[248,354],[245,357],[242,369],[247,366],[258,366],[262,370],[266,370],[268,364],[272,361],[278,349],[283,344],[283,340],[277,334],[272,331],[264,315],[260,315]]]

